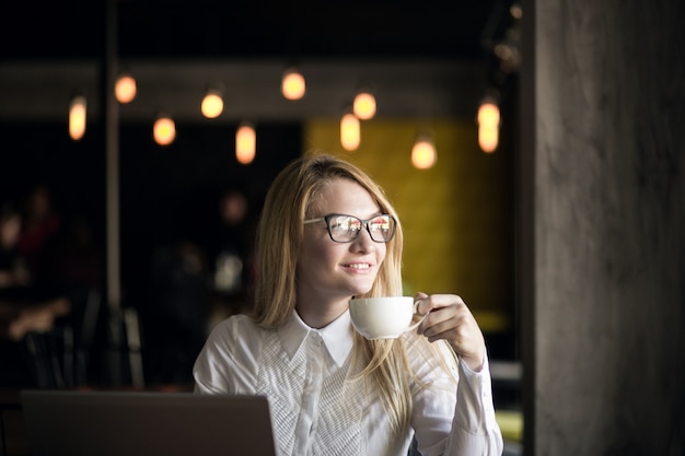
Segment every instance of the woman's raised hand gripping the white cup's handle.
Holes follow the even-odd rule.
[[[462,361],[479,372],[486,355],[485,338],[464,301],[455,294],[426,293],[417,293],[415,300],[419,302],[418,313],[426,315],[418,334],[431,342],[448,340]]]

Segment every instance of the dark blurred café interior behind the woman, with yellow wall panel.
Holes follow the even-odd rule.
[[[317,150],[386,189],[406,292],[462,295],[500,362],[496,399],[516,408],[521,14],[511,0],[3,3],[0,203],[21,234],[5,248],[0,386],[188,388],[207,331],[248,305],[268,185]],[[305,90],[289,100],[292,71]],[[114,97],[120,75],[130,101]],[[344,133],[359,92],[375,112]]]

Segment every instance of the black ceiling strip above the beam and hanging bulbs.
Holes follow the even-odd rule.
[[[116,0],[121,58],[477,60],[511,0]],[[0,58],[97,58],[104,0],[4,1]]]

